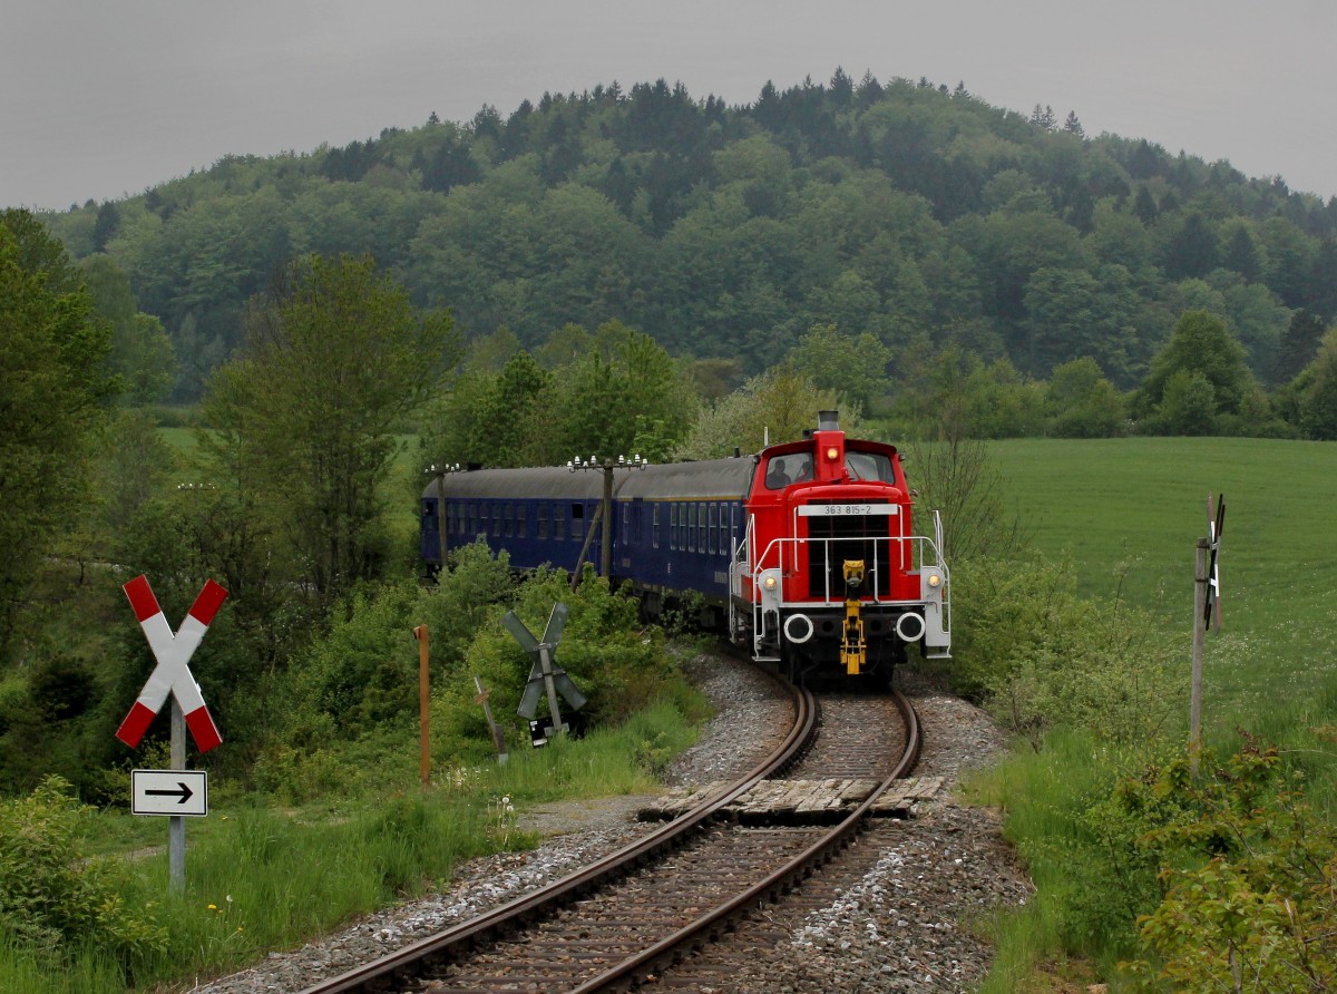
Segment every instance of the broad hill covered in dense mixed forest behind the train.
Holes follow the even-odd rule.
[[[834,324],[893,364],[956,342],[1039,377],[1092,356],[1131,387],[1195,308],[1278,383],[1292,314],[1337,314],[1337,201],[1088,136],[1075,114],[841,71],[746,107],[663,80],[545,94],[47,219],[75,258],[130,274],[176,346],[180,400],[239,341],[245,301],[313,252],[370,252],[469,334],[533,348],[618,318],[743,373]]]

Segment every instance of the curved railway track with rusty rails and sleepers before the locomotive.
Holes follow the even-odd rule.
[[[909,702],[825,698],[792,689],[794,722],[770,757],[664,828],[489,914],[309,987],[336,991],[595,991],[668,979],[675,963],[727,932],[741,915],[782,898],[870,816],[912,768],[919,729]],[[885,712],[894,700],[898,721]],[[898,725],[902,733],[889,729]],[[849,732],[858,729],[858,734]],[[889,741],[896,745],[889,747]],[[739,799],[790,771],[872,776],[876,789],[834,825],[743,825]]]

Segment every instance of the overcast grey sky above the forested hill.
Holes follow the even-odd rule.
[[[927,76],[1337,195],[1333,0],[0,0],[0,207],[663,78]]]

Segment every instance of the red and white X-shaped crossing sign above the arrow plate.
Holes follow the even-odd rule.
[[[135,610],[135,617],[139,618],[139,626],[148,639],[148,648],[154,650],[158,665],[148,674],[148,682],[139,692],[135,706],[130,709],[130,714],[116,729],[116,738],[131,749],[139,745],[139,740],[144,737],[154,716],[167,702],[167,694],[171,693],[186,716],[186,726],[195,738],[199,751],[209,752],[215,745],[221,745],[223,737],[218,734],[218,726],[214,725],[214,718],[210,717],[209,708],[205,706],[205,696],[199,692],[199,685],[191,676],[187,664],[190,657],[195,654],[195,649],[199,648],[205,631],[209,630],[209,622],[218,614],[227,591],[214,581],[206,581],[205,589],[199,591],[199,597],[191,605],[180,629],[172,634],[167,615],[158,606],[158,598],[154,597],[147,577],[135,577],[124,585],[124,590],[126,597],[130,598],[130,606]]]

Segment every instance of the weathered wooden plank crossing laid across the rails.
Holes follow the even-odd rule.
[[[671,821],[727,788],[727,783],[675,787],[640,808],[640,821]],[[917,803],[937,795],[943,777],[897,780],[873,804],[874,817],[913,817]],[[762,780],[727,808],[726,817],[741,824],[825,825],[841,821],[868,800],[876,780]]]

